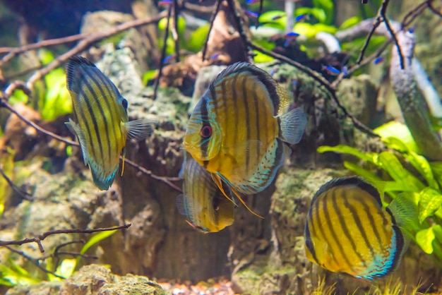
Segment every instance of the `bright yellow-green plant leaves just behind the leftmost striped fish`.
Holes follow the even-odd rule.
[[[43,65],[54,60],[54,54],[47,49],[40,49],[38,54]],[[72,102],[66,88],[64,68],[55,68],[44,76],[44,82],[36,83],[32,97],[32,107],[42,115],[42,119],[53,121],[61,115],[72,112]],[[18,102],[28,103],[28,96],[22,90],[16,90],[9,98],[14,105]]]

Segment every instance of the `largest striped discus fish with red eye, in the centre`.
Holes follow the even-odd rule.
[[[303,109],[285,112],[290,98],[267,72],[239,62],[210,83],[188,121],[184,149],[226,198],[222,183],[249,210],[241,194],[267,188],[289,156],[286,143],[299,143],[304,133]]]

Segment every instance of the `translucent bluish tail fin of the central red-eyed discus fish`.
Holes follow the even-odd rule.
[[[278,137],[284,140],[286,143],[299,143],[307,124],[304,110],[297,107],[296,109],[292,109],[290,112],[282,114],[277,118],[280,124],[280,134]]]

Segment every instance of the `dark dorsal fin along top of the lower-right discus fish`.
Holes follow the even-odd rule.
[[[381,195],[379,195],[378,190],[359,176],[340,177],[338,179],[332,179],[328,181],[327,183],[323,184],[323,186],[321,186],[318,191],[316,191],[315,195],[313,195],[311,203],[313,204],[313,202],[326,191],[338,186],[354,186],[360,188],[363,191],[369,193],[369,195],[371,195],[374,200],[376,200],[376,203],[378,203],[378,205],[382,207]]]

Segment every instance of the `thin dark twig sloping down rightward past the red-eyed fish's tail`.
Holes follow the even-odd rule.
[[[376,133],[374,133],[373,130],[371,130],[371,128],[365,126],[364,124],[362,124],[361,121],[359,121],[352,114],[347,112],[347,109],[345,109],[345,107],[342,106],[342,104],[340,104],[338,97],[336,96],[335,88],[333,88],[330,85],[330,83],[328,83],[328,81],[323,78],[323,76],[320,76],[318,73],[311,70],[311,68],[303,66],[302,64],[299,64],[297,61],[293,61],[292,59],[289,59],[286,56],[283,56],[281,54],[277,54],[275,52],[270,52],[267,49],[264,49],[263,47],[260,47],[256,44],[253,44],[253,43],[251,43],[250,45],[253,49],[257,50],[258,52],[261,52],[263,54],[267,54],[268,56],[272,56],[274,59],[279,59],[280,61],[284,61],[285,63],[287,63],[291,66],[299,68],[300,71],[303,71],[307,75],[311,76],[311,78],[313,78],[314,80],[321,83],[325,87],[325,89],[328,90],[328,92],[330,93],[331,97],[333,98],[333,100],[335,101],[335,103],[337,104],[339,109],[341,109],[341,111],[345,114],[345,116],[347,116],[348,118],[350,118],[352,120],[352,122],[356,128],[358,128],[360,131],[368,134],[369,136],[379,137]]]

